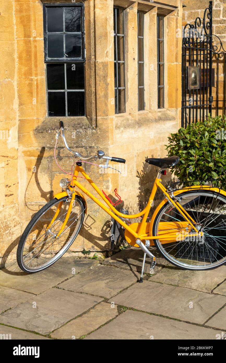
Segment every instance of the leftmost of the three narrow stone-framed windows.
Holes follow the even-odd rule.
[[[125,103],[125,57],[124,57],[124,11],[114,8],[114,54],[115,54],[115,113],[126,112]]]

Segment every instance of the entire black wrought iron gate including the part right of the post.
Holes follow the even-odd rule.
[[[212,32],[212,1],[186,24],[182,41],[181,126],[226,114],[226,51]]]

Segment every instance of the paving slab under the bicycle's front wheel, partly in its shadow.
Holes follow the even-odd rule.
[[[0,270],[0,285],[13,289],[40,294],[50,287],[56,286],[66,278],[74,276],[97,264],[95,260],[79,260],[74,257],[61,257],[53,266],[34,274],[12,272],[8,269]],[[72,270],[74,268],[75,270]]]

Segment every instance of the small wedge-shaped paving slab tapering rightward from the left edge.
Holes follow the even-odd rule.
[[[24,291],[0,286],[0,314],[5,310],[15,307],[16,305],[30,299],[31,297],[32,294],[25,293]]]

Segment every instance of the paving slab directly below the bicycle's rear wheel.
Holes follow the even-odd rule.
[[[176,267],[165,267],[157,275],[151,276],[149,280],[210,293],[214,287],[225,280],[225,277],[226,266],[209,271],[189,271]]]

